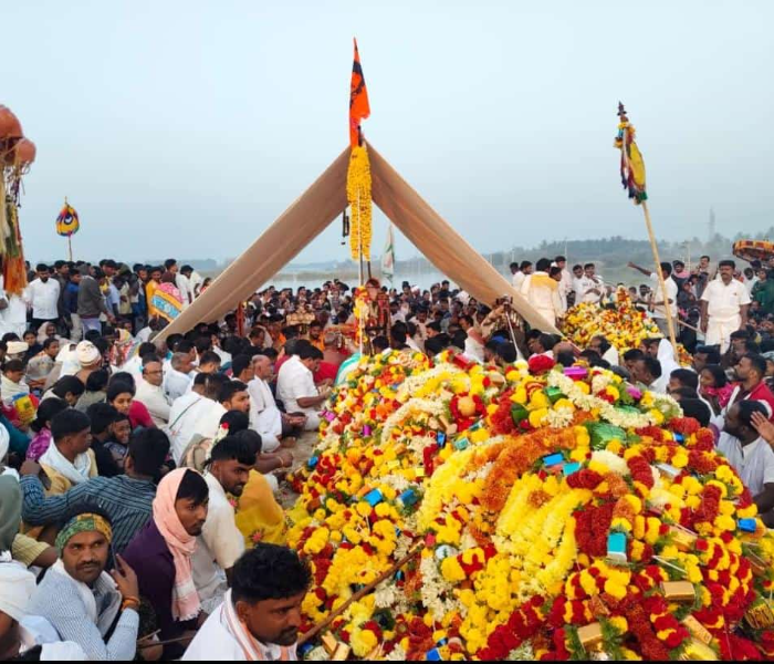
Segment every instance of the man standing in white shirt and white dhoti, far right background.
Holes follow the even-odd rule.
[[[731,333],[747,324],[750,293],[734,279],[736,263],[720,262],[720,278],[710,281],[701,295],[701,331],[707,345],[720,344],[724,353],[731,343]]]

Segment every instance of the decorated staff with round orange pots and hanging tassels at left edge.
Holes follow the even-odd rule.
[[[22,176],[35,160],[35,144],[24,137],[13,112],[0,105],[0,262],[7,292],[20,295],[27,288],[24,251],[19,228]]]

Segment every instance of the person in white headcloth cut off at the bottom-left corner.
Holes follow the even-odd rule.
[[[30,615],[34,592],[32,572],[14,562],[0,562],[0,660],[29,656],[41,662],[83,662],[86,655],[80,645],[59,642],[46,621]]]

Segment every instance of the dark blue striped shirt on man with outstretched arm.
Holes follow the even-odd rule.
[[[73,505],[96,504],[113,522],[113,548],[118,553],[153,515],[156,485],[147,479],[134,479],[126,475],[95,477],[70,489],[62,496],[45,497],[43,485],[31,475],[21,478],[24,494],[22,518],[30,526],[55,523]]]

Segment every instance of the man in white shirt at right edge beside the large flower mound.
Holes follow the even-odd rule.
[[[761,402],[734,404],[725,416],[717,448],[734,467],[753,495],[759,513],[764,516],[774,509],[774,450],[755,428],[754,413],[768,417],[768,409]]]

